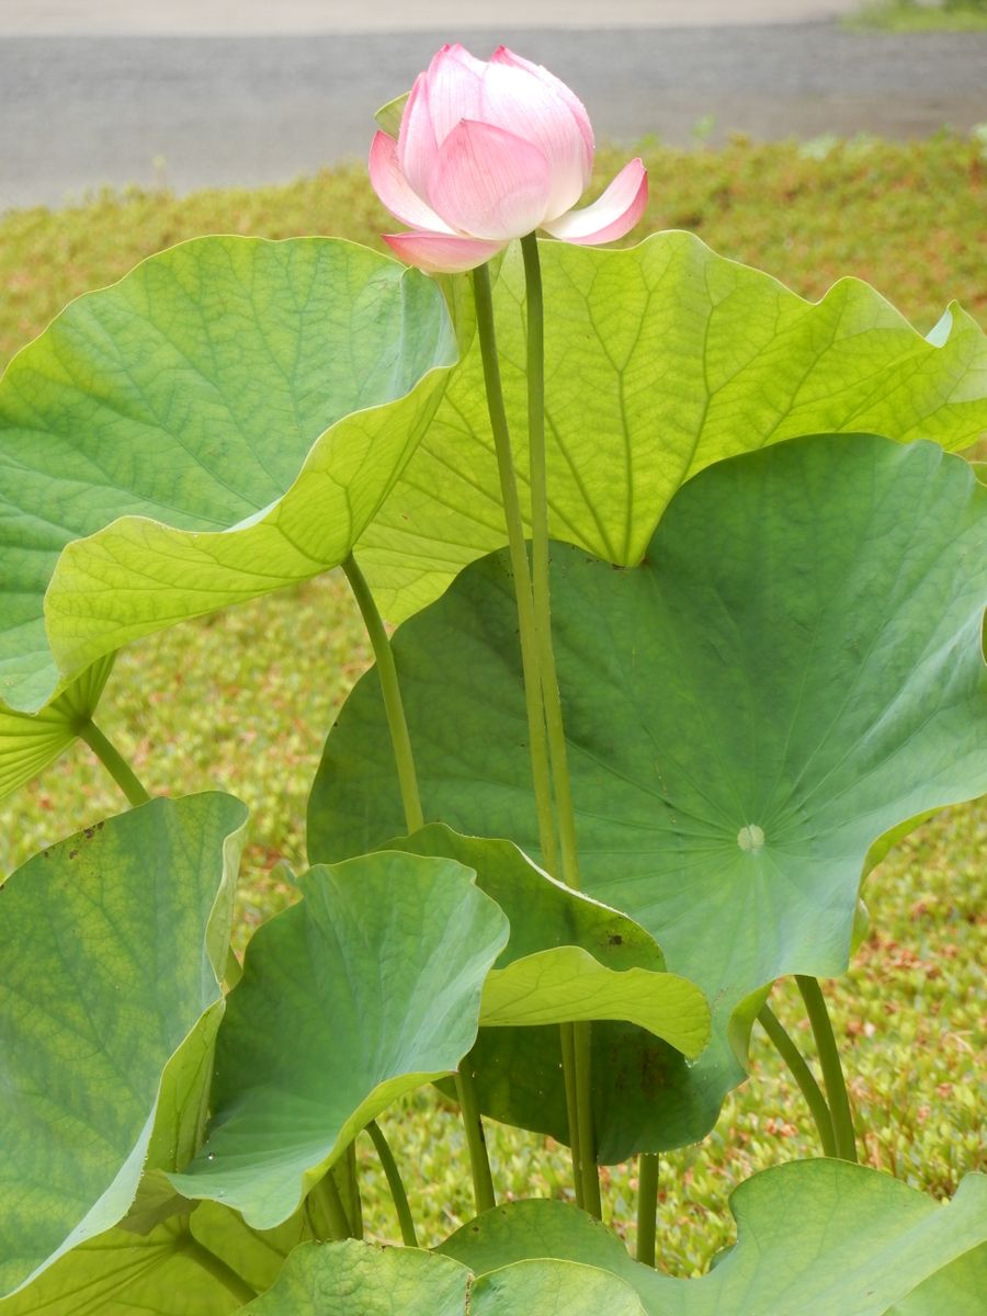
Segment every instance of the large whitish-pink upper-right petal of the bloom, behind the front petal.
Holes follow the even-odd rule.
[[[549,162],[551,184],[545,220],[565,215],[586,187],[586,142],[558,92],[513,64],[490,63],[483,76],[480,117],[537,146]]]

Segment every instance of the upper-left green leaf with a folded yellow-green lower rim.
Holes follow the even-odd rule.
[[[338,563],[454,359],[432,280],[332,238],[199,238],[72,303],[0,380],[0,696]]]

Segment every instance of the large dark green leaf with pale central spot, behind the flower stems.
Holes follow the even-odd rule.
[[[554,551],[586,890],[713,1004],[696,1104],[655,1107],[665,1145],[701,1137],[742,1076],[759,988],[846,967],[871,842],[987,788],[984,504],[932,443],[824,436],[704,471],[634,570]],[[395,653],[426,819],[537,853],[504,555],[405,622]],[[370,672],[326,742],[309,851],[399,826]],[[608,1155],[655,1149],[654,1132]]]

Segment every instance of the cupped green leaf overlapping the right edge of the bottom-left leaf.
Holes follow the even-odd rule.
[[[229,998],[215,1117],[179,1192],[287,1220],[357,1133],[457,1069],[507,919],[450,859],[380,853],[313,869],[265,924]]]

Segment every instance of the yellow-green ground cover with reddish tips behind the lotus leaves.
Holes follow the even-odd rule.
[[[891,146],[874,141],[751,146],[684,154],[646,149],[649,228],[699,232],[728,255],[758,263],[808,296],[841,274],[894,295],[928,329],[950,297],[987,308],[978,254],[984,162],[957,137]],[[612,168],[604,158],[601,172]],[[71,296],[120,276],[143,255],[195,233],[272,237],[341,232],[372,242],[383,224],[361,170],[283,188],[100,196],[58,213],[0,221],[0,359]],[[155,791],[220,787],[253,811],[240,895],[241,944],[291,899],[282,865],[304,866],[308,783],[334,711],[368,663],[355,608],[337,574],[300,590],[154,636],[121,654],[103,703],[107,732]],[[32,853],[122,800],[83,746],[5,801],[0,863]],[[978,949],[983,926],[983,804],[945,811],[869,879],[873,932],[832,984],[836,1028],[863,1152],[878,1166],[949,1196],[983,1163],[978,1130]],[[788,984],[774,1001],[796,1036]],[[455,1112],[432,1091],[382,1121],[407,1175],[424,1241],[471,1213]],[[567,1191],[567,1154],[545,1138],[491,1126],[503,1198]],[[755,1170],[817,1148],[801,1099],[755,1032],[747,1084],[699,1148],[662,1158],[659,1248],[674,1274],[700,1273],[734,1236],[732,1187]],[[361,1148],[370,1229],[396,1238],[383,1178]],[[609,1211],[630,1221],[634,1167],[605,1171]],[[626,1229],[633,1242],[633,1227]]]

